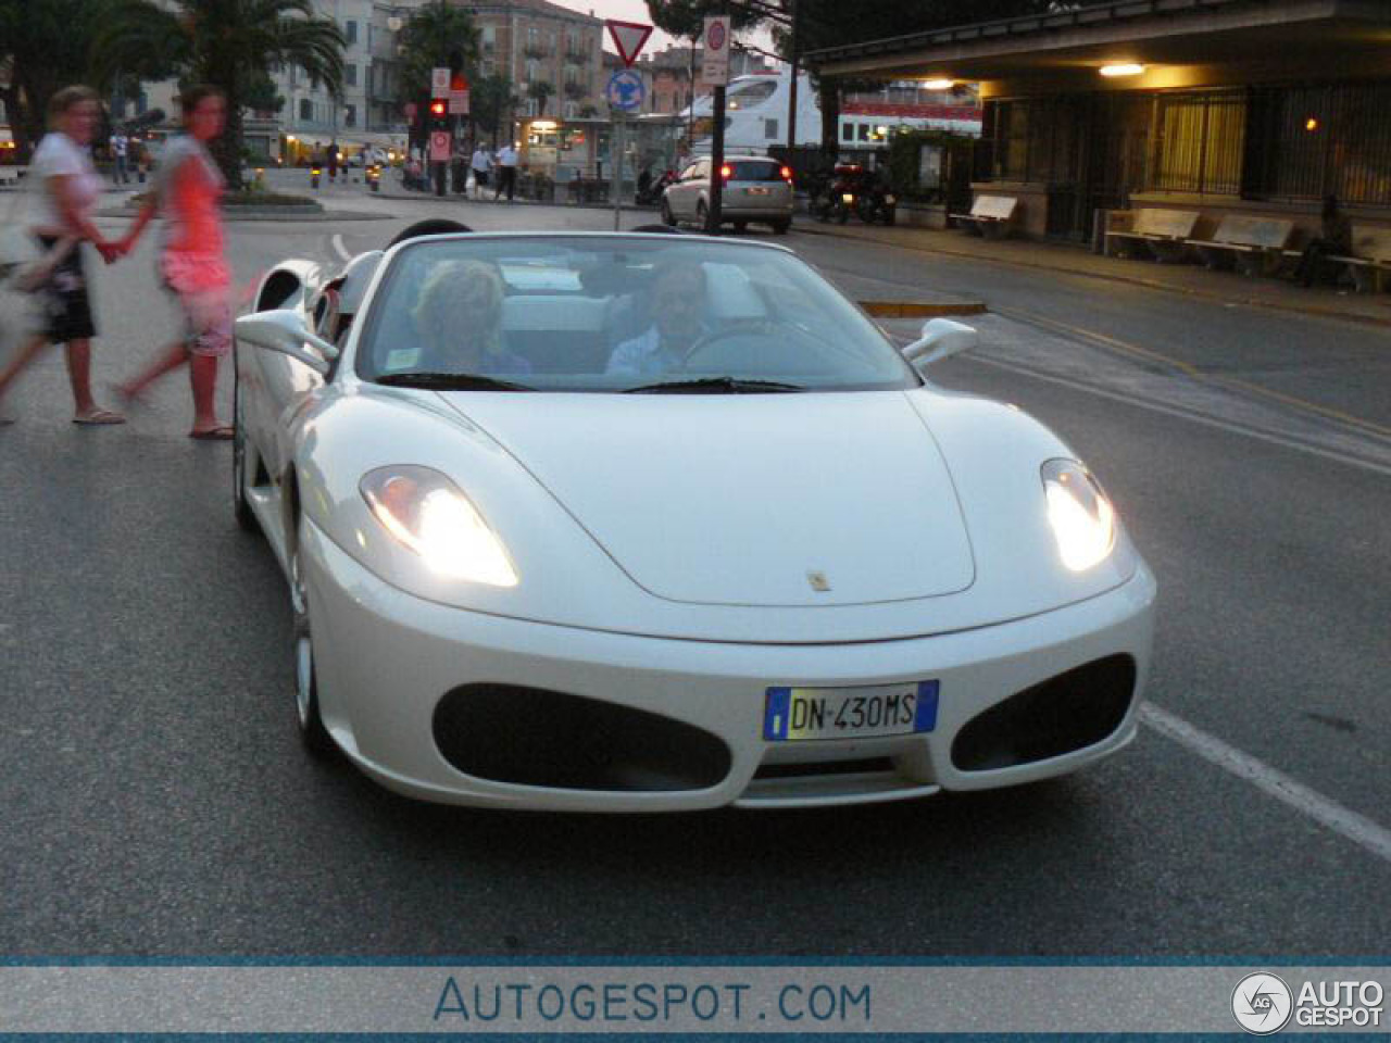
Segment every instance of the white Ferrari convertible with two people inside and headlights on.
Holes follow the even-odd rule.
[[[1013,406],[790,250],[433,235],[236,323],[235,509],[312,751],[412,797],[677,811],[1032,782],[1135,734],[1155,580]]]

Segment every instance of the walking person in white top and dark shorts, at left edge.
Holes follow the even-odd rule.
[[[35,356],[49,343],[67,348],[68,380],[72,385],[74,424],[124,424],[125,417],[102,409],[92,399],[92,298],[88,291],[82,241],[90,242],[110,264],[120,256],[92,224],[102,197],[103,178],[92,165],[92,138],[100,110],[97,93],[86,86],[58,90],[49,102],[51,128],[33,153],[33,181],[39,213],[32,228],[45,250],[58,248],[61,259],[35,291],[43,305],[45,327],[19,346],[0,371],[0,398]],[[6,423],[8,419],[0,419]]]

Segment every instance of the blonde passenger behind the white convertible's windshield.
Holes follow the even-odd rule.
[[[502,275],[492,264],[437,264],[412,312],[421,341],[417,369],[484,375],[530,373],[530,362],[502,346]]]

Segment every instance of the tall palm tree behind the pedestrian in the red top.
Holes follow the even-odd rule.
[[[344,36],[314,17],[312,0],[110,0],[92,57],[145,79],[171,74],[227,95],[227,132],[213,154],[227,184],[242,184],[242,107],[277,65],[298,65],[332,92],[342,89]]]

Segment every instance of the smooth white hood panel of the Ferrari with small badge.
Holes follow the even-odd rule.
[[[658,598],[868,605],[974,581],[951,476],[903,392],[442,398]]]

